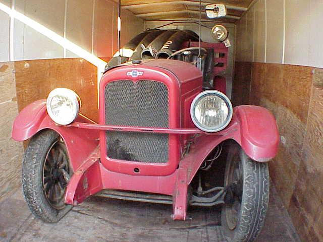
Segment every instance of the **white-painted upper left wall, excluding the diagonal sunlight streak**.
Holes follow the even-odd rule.
[[[112,0],[0,0],[8,7],[44,25],[98,57],[117,49],[118,5]],[[115,23],[115,24],[114,24]],[[122,11],[123,43],[143,31],[144,21]],[[19,20],[13,24],[13,59],[10,59],[10,17],[0,10],[0,62],[24,59],[77,57]]]

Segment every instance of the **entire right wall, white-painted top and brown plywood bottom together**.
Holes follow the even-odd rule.
[[[274,113],[271,178],[302,241],[323,241],[322,11],[317,0],[259,0],[236,26],[233,103]]]

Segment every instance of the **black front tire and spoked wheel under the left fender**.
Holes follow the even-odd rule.
[[[68,176],[66,175],[66,173],[64,174],[69,178],[73,172],[72,168],[70,168],[66,146],[60,135],[52,130],[41,131],[30,140],[23,158],[22,165],[22,190],[28,207],[35,215],[35,217],[40,218],[44,222],[48,223],[58,222],[72,208],[71,205],[64,204],[64,193],[68,184],[68,180],[66,181],[64,177],[62,178],[62,175],[59,175],[58,171],[56,171],[55,176],[58,181],[55,181],[54,178],[52,178],[53,175],[51,173],[54,172],[53,168],[48,171],[47,165],[49,165],[49,163],[58,166],[57,163],[60,160],[58,157],[55,158],[55,154],[51,154],[50,162],[48,161],[49,152],[51,152],[54,147],[56,147],[56,149],[59,149],[59,157],[62,160],[64,159],[64,161],[62,162],[66,163],[64,164],[64,170],[67,170]],[[52,153],[54,152],[56,151],[54,150]],[[49,163],[47,164],[46,162]],[[45,179],[50,179],[50,184],[49,181],[45,183]],[[57,185],[55,185],[56,182]],[[64,185],[65,190],[62,188],[62,184]],[[50,187],[47,193],[51,192],[53,200],[50,199],[51,196],[47,196],[45,185],[46,187]],[[55,186],[60,186],[62,189],[60,190],[58,188],[55,188]],[[58,193],[59,190],[60,193]],[[58,196],[58,198],[55,197],[57,194],[61,196]],[[62,197],[63,200],[61,199]]]

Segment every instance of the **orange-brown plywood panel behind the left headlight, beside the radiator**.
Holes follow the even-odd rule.
[[[80,112],[97,121],[97,69],[82,58],[15,62],[19,111],[46,98],[58,87],[74,90],[81,98]]]

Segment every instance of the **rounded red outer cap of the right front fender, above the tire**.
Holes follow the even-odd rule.
[[[240,137],[234,139],[253,160],[266,162],[278,152],[279,133],[274,115],[266,108],[242,105],[234,108]]]

